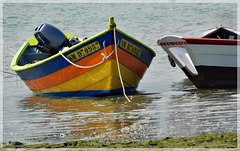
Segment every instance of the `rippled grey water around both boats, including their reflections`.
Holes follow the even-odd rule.
[[[18,50],[41,23],[91,37],[115,17],[117,28],[157,53],[138,94],[88,98],[35,96],[10,69],[4,45],[4,142],[59,143],[66,140],[148,140],[237,132],[237,90],[198,90],[169,65],[156,41],[168,34],[200,37],[222,24],[237,28],[236,4],[4,4],[4,41]],[[9,73],[7,73],[9,72]],[[12,74],[10,74],[12,73]],[[126,104],[125,104],[126,103]]]

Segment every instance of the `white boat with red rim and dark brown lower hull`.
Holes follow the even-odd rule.
[[[220,26],[201,38],[164,36],[157,43],[197,88],[237,88],[238,36]]]

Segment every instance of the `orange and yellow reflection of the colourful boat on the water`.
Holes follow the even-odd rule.
[[[132,125],[141,115],[133,116],[131,111],[144,108],[143,104],[148,101],[144,95],[134,95],[131,99],[132,102],[128,102],[127,105],[121,101],[124,100],[123,97],[120,98],[120,101],[114,101],[116,99],[104,97],[96,99],[65,98],[63,100],[34,96],[26,98],[25,103],[22,104],[25,109],[33,109],[32,112],[45,111],[44,115],[39,115],[40,118],[33,118],[30,125],[37,124],[40,127],[41,125],[43,127],[54,125],[52,130],[54,134],[65,134],[70,139],[81,139]],[[46,116],[46,118],[42,116]],[[51,127],[46,128],[51,129]],[[43,135],[44,132],[40,133]],[[113,132],[109,137],[116,137],[115,135],[118,134]]]

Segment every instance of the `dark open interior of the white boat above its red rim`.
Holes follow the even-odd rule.
[[[240,35],[234,31],[220,27],[202,38],[216,38],[216,39],[239,39]]]

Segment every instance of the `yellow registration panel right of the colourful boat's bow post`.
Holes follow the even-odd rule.
[[[140,55],[142,54],[142,49],[140,49],[139,47],[135,46],[134,44],[125,39],[121,39],[120,47],[137,57],[140,57]]]

